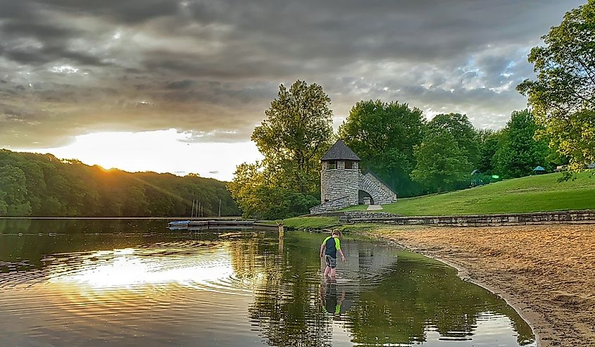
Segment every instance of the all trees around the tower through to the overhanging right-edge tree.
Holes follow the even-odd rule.
[[[408,103],[367,100],[334,134],[322,87],[281,84],[251,137],[264,159],[239,165],[227,187],[246,216],[308,213],[320,203],[320,158],[337,137],[401,197],[469,187],[471,172],[476,183],[530,175],[538,165],[582,170],[595,162],[595,0],[542,39],[546,46],[528,57],[537,79],[517,87],[530,108],[514,111],[501,130],[476,129],[460,113],[427,121]]]

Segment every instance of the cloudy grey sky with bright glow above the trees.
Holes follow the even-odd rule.
[[[0,148],[230,180],[280,84],[360,100],[526,107],[531,47],[575,0],[0,0]]]

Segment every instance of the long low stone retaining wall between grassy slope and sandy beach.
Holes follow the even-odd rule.
[[[360,211],[363,212],[363,211]],[[424,217],[353,217],[349,222],[384,223],[394,225],[434,225],[439,227],[488,227],[503,225],[539,224],[595,224],[595,210],[556,211],[536,213],[507,213],[499,215],[442,215]]]

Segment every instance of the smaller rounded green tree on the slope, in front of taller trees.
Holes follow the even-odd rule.
[[[472,170],[465,150],[445,128],[431,128],[415,146],[417,165],[411,177],[432,191],[451,189],[465,182]]]

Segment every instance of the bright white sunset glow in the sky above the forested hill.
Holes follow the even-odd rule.
[[[77,159],[105,170],[198,173],[224,181],[233,179],[237,165],[261,159],[256,144],[244,142],[188,142],[175,129],[152,132],[96,132],[77,136],[72,144],[46,149],[15,149],[51,153]]]

